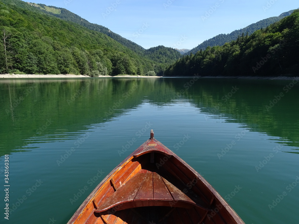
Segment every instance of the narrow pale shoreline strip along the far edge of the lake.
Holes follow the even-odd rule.
[[[299,80],[298,76],[99,76],[104,78],[210,78],[210,79],[260,79],[260,80]],[[72,74],[60,74],[60,75],[36,75],[36,74],[0,74],[0,78],[90,78],[86,75],[72,75]]]

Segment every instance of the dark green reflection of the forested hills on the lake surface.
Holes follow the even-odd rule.
[[[186,102],[206,119],[246,124],[251,131],[278,136],[280,144],[298,150],[297,86],[269,110],[266,105],[289,81],[199,79],[186,88],[188,81],[1,79],[0,156],[36,148],[38,143],[76,139],[78,131],[88,130],[86,125],[104,124],[140,105],[164,110]]]

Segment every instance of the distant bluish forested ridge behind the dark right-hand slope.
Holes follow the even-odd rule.
[[[263,19],[259,22],[250,24],[249,26],[247,26],[245,28],[242,28],[239,30],[234,30],[233,32],[231,32],[229,34],[219,34],[217,36],[214,36],[213,38],[205,40],[200,45],[198,45],[197,47],[194,47],[193,49],[191,49],[189,52],[185,53],[184,55],[187,55],[187,54],[190,55],[190,53],[195,54],[199,50],[205,50],[208,46],[210,46],[210,47],[222,46],[227,42],[236,40],[238,38],[238,36],[242,35],[242,33],[245,35],[246,34],[251,35],[254,31],[259,30],[260,28],[266,28],[269,25],[273,24],[274,22],[277,22],[280,19],[283,19],[284,17],[291,15],[291,13],[293,11],[294,10],[290,10],[288,12],[281,13],[279,16],[274,16],[274,17],[270,17],[268,19]]]

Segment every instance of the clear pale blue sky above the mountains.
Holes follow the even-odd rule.
[[[220,33],[231,33],[299,7],[298,0],[39,0],[35,3],[66,8],[144,48],[164,45],[179,49],[192,49]]]

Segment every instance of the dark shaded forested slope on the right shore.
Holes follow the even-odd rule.
[[[266,29],[177,60],[165,76],[298,75],[299,10]]]

